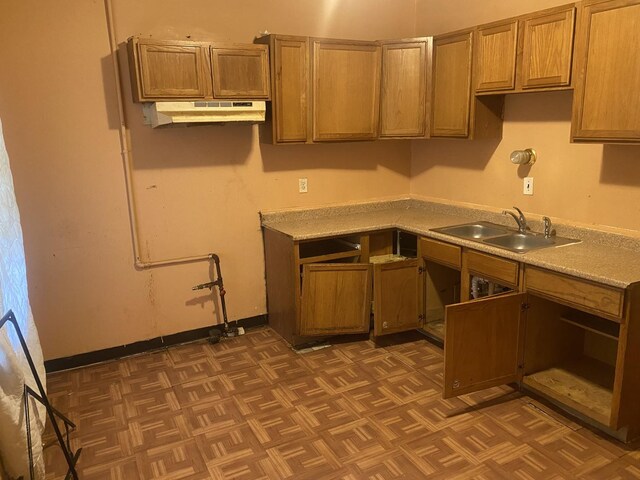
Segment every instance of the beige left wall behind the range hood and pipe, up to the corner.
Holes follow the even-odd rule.
[[[259,30],[397,38],[414,1],[114,2],[130,35],[250,42]],[[366,19],[366,21],[364,20]],[[133,267],[103,2],[11,2],[0,16],[0,116],[20,207],[30,298],[45,357],[213,322],[207,263]],[[130,101],[145,259],[216,252],[231,319],[266,312],[258,211],[406,195],[410,145],[274,147],[256,127],[152,131]],[[297,178],[309,193],[297,193]]]

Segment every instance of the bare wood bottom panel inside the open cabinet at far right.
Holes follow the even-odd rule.
[[[523,383],[554,400],[609,425],[615,368],[581,357],[523,378]]]

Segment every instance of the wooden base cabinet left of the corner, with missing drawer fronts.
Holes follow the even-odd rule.
[[[271,327],[294,346],[319,336],[418,328],[421,269],[402,254],[396,233],[296,242],[265,229]],[[404,253],[415,257],[415,250]]]

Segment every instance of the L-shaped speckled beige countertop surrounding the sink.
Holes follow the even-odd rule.
[[[265,228],[294,241],[400,229],[424,237],[510,258],[613,287],[640,282],[640,239],[571,225],[554,225],[557,234],[580,239],[577,244],[513,253],[490,245],[433,232],[431,229],[475,221],[499,223],[515,229],[513,219],[496,212],[404,199],[308,210],[262,212]],[[539,220],[529,220],[542,231]]]

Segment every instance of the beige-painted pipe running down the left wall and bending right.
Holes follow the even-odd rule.
[[[107,31],[109,33],[109,48],[111,50],[111,60],[113,62],[113,73],[115,79],[115,87],[116,87],[116,97],[118,100],[118,120],[120,122],[120,126],[118,129],[118,133],[120,136],[120,149],[122,155],[122,162],[124,164],[124,178],[125,184],[127,188],[127,207],[129,210],[129,225],[131,227],[131,241],[133,243],[133,254],[135,257],[135,266],[136,268],[150,268],[150,267],[160,267],[165,265],[175,265],[179,263],[191,263],[191,262],[199,262],[203,260],[209,260],[210,254],[204,255],[195,255],[192,257],[179,257],[179,258],[170,258],[166,260],[148,260],[143,261],[140,258],[140,237],[138,235],[138,217],[136,213],[136,201],[135,195],[133,191],[133,162],[131,159],[131,141],[129,138],[129,130],[127,129],[126,120],[125,120],[125,112],[124,112],[124,98],[122,96],[122,87],[121,87],[121,75],[120,75],[120,64],[118,63],[118,44],[116,41],[116,33],[113,21],[113,6],[111,5],[111,0],[105,0],[105,13],[107,20]]]

